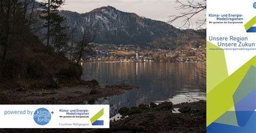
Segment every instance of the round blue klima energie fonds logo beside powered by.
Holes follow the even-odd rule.
[[[39,125],[46,125],[51,120],[51,113],[46,108],[38,108],[34,115],[34,121]]]

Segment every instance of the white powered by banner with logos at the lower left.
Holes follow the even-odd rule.
[[[109,105],[0,105],[0,128],[109,128]]]

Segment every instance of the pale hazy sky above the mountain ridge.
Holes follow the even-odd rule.
[[[62,6],[62,9],[85,13],[102,6],[110,5],[120,11],[134,12],[139,16],[166,22],[170,19],[169,16],[178,15],[181,12],[181,10],[175,9],[175,7],[178,6],[175,1],[176,0],[65,0],[65,5]],[[181,1],[186,2],[187,0]],[[196,15],[193,18],[193,22],[195,23],[198,19],[204,19],[205,14],[206,12],[202,12]],[[173,26],[181,26],[182,24],[182,20],[172,23]],[[194,27],[196,27],[195,24]]]

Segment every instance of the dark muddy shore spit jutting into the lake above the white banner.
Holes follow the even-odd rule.
[[[23,105],[69,105],[94,104],[98,98],[118,95],[125,90],[138,88],[125,84],[99,86],[96,80],[83,81],[77,85],[49,89],[0,88],[0,104]],[[87,101],[87,103],[85,103]]]

